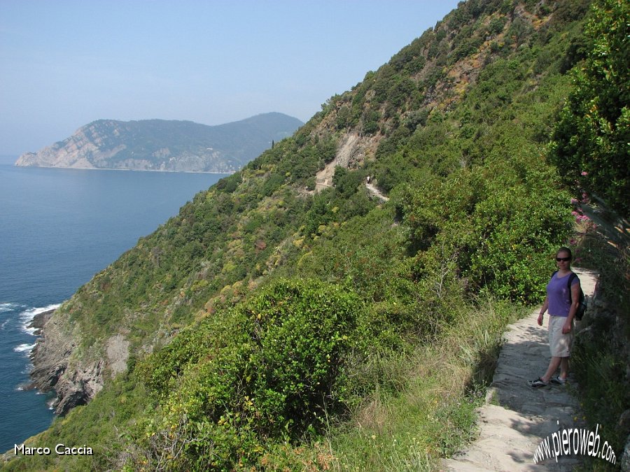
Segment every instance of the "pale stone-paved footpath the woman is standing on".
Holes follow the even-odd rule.
[[[595,290],[596,275],[574,269],[585,295]],[[584,427],[570,386],[532,389],[527,380],[538,378],[549,364],[547,321],[536,323],[540,308],[507,327],[486,404],[479,410],[479,437],[451,459],[445,471],[570,471],[580,457],[563,456],[534,464],[533,454],[543,438],[563,428]],[[573,381],[572,381],[573,380]],[[499,406],[500,405],[500,406]],[[575,418],[577,417],[577,420]]]

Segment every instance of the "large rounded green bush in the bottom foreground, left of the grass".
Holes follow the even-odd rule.
[[[339,376],[361,312],[335,285],[278,280],[176,336],[137,369],[159,408],[133,460],[158,466],[177,443],[170,467],[223,470],[320,430],[344,410]]]

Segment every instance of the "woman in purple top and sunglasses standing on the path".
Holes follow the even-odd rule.
[[[547,387],[549,383],[563,385],[568,374],[568,358],[570,356],[571,342],[573,341],[573,317],[580,303],[580,279],[572,276],[571,250],[560,248],[556,253],[558,270],[553,273],[547,284],[547,297],[542,303],[538,324],[542,326],[542,317],[549,310],[549,349],[551,361],[547,372],[536,380],[529,380],[532,388]],[[569,291],[570,281],[570,291]],[[552,377],[556,369],[560,367],[560,375]]]

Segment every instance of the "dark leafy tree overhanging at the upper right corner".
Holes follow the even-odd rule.
[[[628,2],[594,3],[586,64],[575,71],[575,91],[561,112],[550,155],[577,192],[598,194],[624,216],[630,213],[628,24]]]

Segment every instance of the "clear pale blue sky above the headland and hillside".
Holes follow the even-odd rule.
[[[0,0],[0,155],[101,118],[307,121],[456,4]]]

